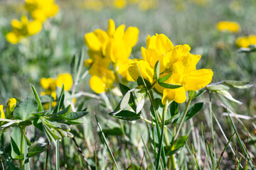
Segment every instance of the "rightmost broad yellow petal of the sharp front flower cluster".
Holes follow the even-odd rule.
[[[198,69],[185,74],[182,83],[186,91],[197,91],[210,84],[212,77],[211,69]]]

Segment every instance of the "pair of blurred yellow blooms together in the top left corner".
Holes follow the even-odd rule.
[[[38,33],[42,28],[42,23],[46,18],[55,16],[58,6],[53,0],[26,0],[26,10],[31,14],[33,20],[28,21],[27,16],[22,16],[21,21],[16,19],[11,21],[11,32],[6,34],[6,40],[12,44],[18,43],[22,38]]]

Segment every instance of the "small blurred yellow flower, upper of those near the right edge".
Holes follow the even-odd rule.
[[[238,33],[241,30],[239,23],[231,22],[231,21],[220,21],[217,24],[217,28],[218,30],[223,32],[230,31],[233,33]]]

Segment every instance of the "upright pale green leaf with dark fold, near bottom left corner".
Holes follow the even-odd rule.
[[[14,127],[11,131],[11,157],[16,159],[21,155],[21,128]]]

